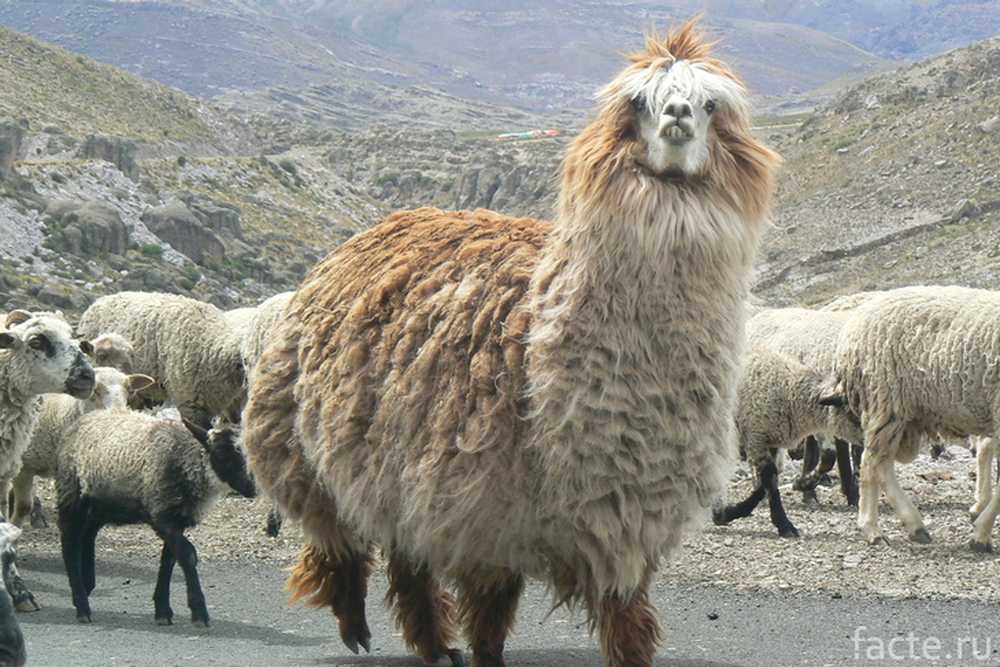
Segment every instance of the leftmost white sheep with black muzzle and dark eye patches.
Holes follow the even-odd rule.
[[[10,483],[21,467],[41,409],[41,394],[66,393],[86,398],[94,390],[94,369],[86,354],[88,341],[78,341],[65,320],[35,316],[24,310],[8,313],[0,331],[0,485]],[[6,499],[6,493],[3,498]],[[0,520],[6,521],[0,517]],[[38,609],[17,565],[11,564],[7,590],[19,611]]]

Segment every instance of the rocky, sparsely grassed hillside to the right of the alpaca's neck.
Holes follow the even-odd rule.
[[[1000,38],[852,87],[779,148],[768,300],[1000,286]]]

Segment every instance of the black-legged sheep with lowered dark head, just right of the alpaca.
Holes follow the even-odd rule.
[[[774,450],[788,449],[806,435],[830,428],[860,436],[860,424],[844,409],[844,397],[834,392],[832,374],[823,375],[762,345],[750,352],[737,397],[736,429],[757,481],[746,500],[717,508],[712,518],[716,525],[726,525],[749,516],[767,495],[778,535],[798,537],[781,504]]]

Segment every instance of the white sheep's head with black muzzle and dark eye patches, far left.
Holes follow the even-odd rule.
[[[66,393],[87,398],[94,390],[94,369],[85,355],[93,352],[88,341],[76,340],[65,321],[50,315],[15,310],[7,315],[7,330],[0,332],[19,389],[25,395]]]

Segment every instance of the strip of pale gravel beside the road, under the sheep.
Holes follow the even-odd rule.
[[[855,513],[836,484],[818,489],[818,507],[803,505],[801,495],[790,489],[798,471],[798,464],[792,462],[785,466],[782,491],[788,515],[801,538],[777,536],[765,501],[748,519],[730,526],[709,526],[693,536],[680,557],[662,567],[660,583],[816,592],[830,597],[1000,601],[1000,556],[975,554],[968,548],[972,525],[967,509],[974,500],[975,461],[961,447],[951,447],[949,452],[954,457],[949,461],[932,461],[922,455],[899,468],[901,484],[923,513],[934,538],[932,544],[907,541],[892,509],[883,502],[881,523],[890,545],[866,545],[855,528]],[[732,484],[731,498],[741,499],[749,493],[746,469],[740,472],[744,479]],[[52,485],[42,482],[41,487],[51,526],[28,529],[21,539],[19,558],[29,586],[33,558],[59,557]],[[190,533],[200,559],[267,562],[277,567],[292,564],[301,534],[296,526],[286,524],[278,539],[267,537],[264,522],[268,506],[265,499],[223,498]],[[127,557],[155,569],[160,545],[148,528],[130,526],[105,528],[97,548],[99,561]],[[49,594],[40,597],[45,604]]]

